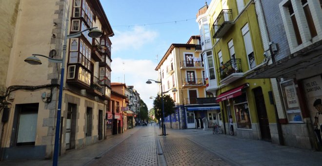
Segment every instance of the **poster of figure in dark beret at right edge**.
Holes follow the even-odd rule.
[[[310,111],[313,129],[322,145],[322,78],[321,75],[303,80],[307,107]]]

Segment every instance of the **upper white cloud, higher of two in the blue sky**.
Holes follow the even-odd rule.
[[[140,49],[145,43],[154,41],[158,37],[156,31],[147,30],[141,26],[135,26],[128,31],[115,30],[115,36],[111,38],[113,52],[126,49]]]

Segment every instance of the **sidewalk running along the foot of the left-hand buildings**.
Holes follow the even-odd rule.
[[[59,166],[84,166],[101,158],[104,152],[110,150],[122,141],[137,132],[141,126],[128,129],[122,134],[107,136],[96,144],[85,146],[81,149],[71,150],[58,158]],[[1,161],[0,166],[51,166],[53,160],[18,160],[18,161]]]

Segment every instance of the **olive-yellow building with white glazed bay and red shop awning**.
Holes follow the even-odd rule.
[[[269,79],[246,76],[262,66],[263,46],[253,0],[212,0],[197,13],[207,91],[221,106],[225,134],[278,142]],[[233,128],[229,124],[232,116]]]

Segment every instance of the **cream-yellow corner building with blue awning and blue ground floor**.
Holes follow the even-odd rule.
[[[165,118],[167,127],[207,128],[205,119],[209,118],[221,123],[216,118],[220,113],[219,104],[214,104],[215,98],[205,91],[200,36],[191,36],[184,44],[171,44],[155,70],[160,73],[163,92],[176,103],[175,114]]]

